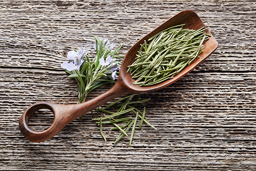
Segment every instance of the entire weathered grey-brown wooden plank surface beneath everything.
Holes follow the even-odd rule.
[[[142,94],[158,128],[137,130],[132,147],[113,145],[86,114],[43,143],[26,140],[18,120],[37,101],[76,103],[61,54],[93,35],[124,44],[185,9],[210,26],[219,48],[203,64],[159,91]],[[0,170],[256,170],[256,1],[0,0]],[[108,90],[99,88],[90,98]],[[47,117],[48,119],[44,119]],[[52,115],[31,118],[35,130]]]

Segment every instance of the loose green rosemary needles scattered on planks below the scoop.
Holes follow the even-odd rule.
[[[146,107],[144,107],[143,112],[135,108],[136,104],[148,102],[150,99],[141,100],[140,98],[138,100],[133,100],[134,96],[137,96],[139,94],[133,94],[126,96],[125,98],[116,100],[115,102],[110,103],[108,106],[104,108],[98,108],[96,109],[97,116],[94,117],[94,112],[92,111],[93,120],[95,120],[96,124],[99,124],[99,130],[101,132],[102,137],[105,140],[106,143],[106,137],[103,133],[102,127],[103,124],[112,124],[114,127],[111,128],[111,130],[118,130],[120,131],[120,134],[116,138],[114,144],[116,144],[119,140],[121,140],[124,136],[130,137],[129,145],[132,144],[132,138],[135,132],[136,123],[139,121],[138,118],[140,118],[139,122],[139,129],[142,126],[142,123],[146,123],[148,126],[154,128],[157,130],[153,125],[151,125],[147,118],[145,117],[146,114]],[[110,110],[109,110],[110,109]],[[112,112],[113,110],[118,109],[116,112]],[[132,116],[129,112],[133,113]],[[100,117],[100,115],[103,115]],[[125,116],[126,115],[126,116]],[[122,125],[122,126],[121,126]],[[130,136],[128,135],[128,131],[131,130]]]

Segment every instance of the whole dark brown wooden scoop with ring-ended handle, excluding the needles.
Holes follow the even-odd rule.
[[[132,84],[135,80],[132,79],[131,75],[127,72],[128,65],[131,65],[135,61],[135,56],[137,51],[140,49],[140,44],[143,44],[144,40],[154,36],[158,32],[163,31],[174,25],[185,24],[183,28],[189,29],[199,29],[205,27],[202,20],[195,12],[191,10],[186,10],[178,13],[173,16],[165,23],[161,24],[159,27],[148,33],[142,39],[140,39],[135,45],[129,49],[127,54],[124,57],[123,63],[121,65],[120,74],[116,84],[107,92],[102,95],[97,96],[94,99],[88,100],[87,102],[80,104],[56,104],[50,102],[37,102],[32,104],[27,110],[22,114],[19,120],[20,132],[32,142],[43,142],[52,138],[60,130],[62,130],[68,123],[72,120],[78,118],[79,116],[86,114],[87,112],[102,106],[103,104],[113,100],[114,98],[126,95],[126,94],[135,94],[142,92],[149,92],[158,90],[160,88],[169,86],[175,81],[179,80],[181,77],[185,76],[187,73],[196,68],[204,60],[207,59],[218,47],[218,42],[211,35],[209,30],[206,30],[206,33],[211,35],[207,41],[203,43],[204,51],[200,54],[200,57],[196,58],[190,65],[185,67],[178,75],[174,76],[173,79],[164,81],[160,84],[154,86],[144,86],[140,87],[138,85]],[[206,27],[205,27],[206,28]],[[28,120],[30,116],[38,111],[39,109],[48,109],[51,110],[54,114],[54,121],[52,125],[45,131],[37,132],[29,128]]]

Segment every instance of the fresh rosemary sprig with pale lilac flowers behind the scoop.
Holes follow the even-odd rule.
[[[120,70],[120,62],[116,57],[118,49],[113,49],[114,44],[111,44],[108,39],[99,40],[94,36],[96,56],[90,60],[86,55],[86,50],[81,45],[77,50],[69,51],[67,55],[68,61],[65,61],[61,66],[67,70],[69,78],[75,79],[78,82],[79,100],[78,103],[85,101],[87,94],[106,84],[115,83],[117,71]]]

